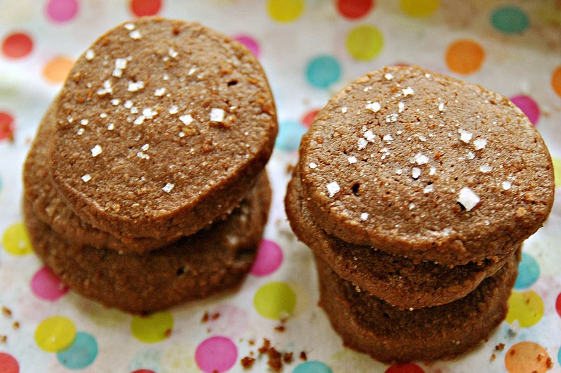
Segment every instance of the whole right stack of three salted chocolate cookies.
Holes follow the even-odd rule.
[[[393,66],[318,113],[285,207],[344,344],[391,363],[487,339],[553,194],[548,150],[511,101]]]

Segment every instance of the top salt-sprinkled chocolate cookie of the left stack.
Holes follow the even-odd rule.
[[[229,213],[278,131],[247,48],[159,17],[121,24],[79,57],[56,121],[50,164],[60,197],[122,237],[189,235]]]

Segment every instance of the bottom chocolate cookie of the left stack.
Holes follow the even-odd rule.
[[[262,239],[271,190],[263,173],[227,220],[144,254],[72,244],[37,218],[28,199],[24,202],[35,252],[69,288],[109,307],[146,313],[241,283]]]

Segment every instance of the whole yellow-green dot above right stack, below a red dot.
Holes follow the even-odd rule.
[[[351,29],[346,36],[346,50],[358,61],[370,61],[384,48],[384,35],[374,26],[363,25]]]

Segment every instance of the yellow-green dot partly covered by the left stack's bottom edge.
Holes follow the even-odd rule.
[[[173,316],[169,311],[156,312],[148,316],[133,316],[130,330],[140,342],[156,343],[170,336]]]

